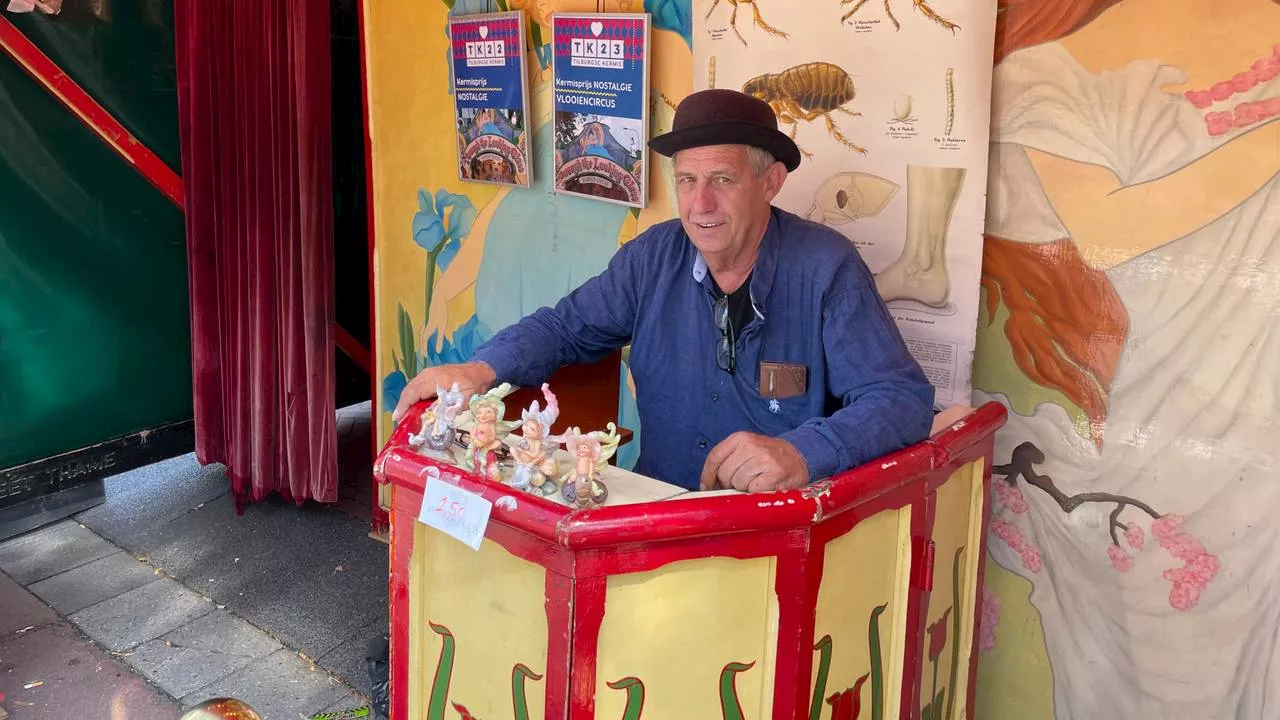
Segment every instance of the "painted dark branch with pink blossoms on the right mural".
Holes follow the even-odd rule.
[[[1036,471],[1036,465],[1044,461],[1044,452],[1034,443],[1024,442],[1014,448],[1009,464],[996,465],[991,469],[992,475],[1001,479],[992,480],[992,492],[996,501],[1012,514],[1021,515],[1028,510],[1027,497],[1023,495],[1018,480],[1021,479],[1028,486],[1034,487],[1047,495],[1062,512],[1071,512],[1085,503],[1114,503],[1107,518],[1107,532],[1111,536],[1111,544],[1107,546],[1107,559],[1111,566],[1119,573],[1133,570],[1134,556],[1142,551],[1147,543],[1147,536],[1142,525],[1137,523],[1123,523],[1120,514],[1125,509],[1133,507],[1151,516],[1151,534],[1156,543],[1172,559],[1180,560],[1180,568],[1165,570],[1162,577],[1172,585],[1169,591],[1169,605],[1184,612],[1193,610],[1201,598],[1201,593],[1208,587],[1221,564],[1216,555],[1204,550],[1201,542],[1183,529],[1185,518],[1181,515],[1161,515],[1156,509],[1146,502],[1110,492],[1082,492],[1066,495],[1053,483],[1053,478]],[[1032,573],[1038,573],[1043,561],[1039,548],[1037,548],[1023,534],[1018,525],[1001,519],[991,520],[991,533],[1007,544],[1021,559],[1023,568]],[[1123,538],[1123,542],[1121,542]],[[1133,555],[1129,550],[1133,551]]]

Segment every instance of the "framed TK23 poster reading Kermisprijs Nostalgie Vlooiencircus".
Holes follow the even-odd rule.
[[[556,191],[644,208],[649,15],[556,14]]]

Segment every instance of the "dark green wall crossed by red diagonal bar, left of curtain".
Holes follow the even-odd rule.
[[[8,17],[177,169],[172,9],[151,5]],[[188,418],[182,211],[0,55],[0,468]]]

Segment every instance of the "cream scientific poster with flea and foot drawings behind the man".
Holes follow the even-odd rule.
[[[774,202],[844,233],[942,406],[968,405],[996,0],[796,13],[694,0],[694,86],[768,101],[804,152]]]

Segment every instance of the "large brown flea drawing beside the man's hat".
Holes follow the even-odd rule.
[[[831,113],[841,111],[847,115],[861,115],[847,108],[846,104],[854,100],[854,79],[844,69],[831,63],[805,63],[787,68],[781,73],[756,76],[742,85],[742,92],[754,95],[768,102],[778,115],[778,122],[791,126],[788,133],[792,140],[796,136],[796,126],[800,122],[812,122],[818,118],[827,120],[827,132],[841,145],[867,154],[867,149],[855,145],[845,137]],[[813,152],[800,149],[806,158],[813,158]]]

